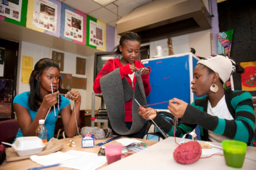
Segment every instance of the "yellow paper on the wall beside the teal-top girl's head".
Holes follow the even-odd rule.
[[[30,74],[33,70],[33,57],[22,56],[22,83],[29,83]]]

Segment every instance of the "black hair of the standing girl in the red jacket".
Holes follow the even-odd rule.
[[[122,54],[122,52],[119,49],[119,46],[124,46],[124,43],[127,41],[137,41],[139,43],[141,43],[141,38],[138,34],[136,34],[135,32],[125,32],[124,34],[122,34],[120,41],[119,41],[119,45],[117,45],[114,48],[114,55],[116,56],[120,56]]]

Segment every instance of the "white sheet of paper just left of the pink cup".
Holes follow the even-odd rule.
[[[97,156],[97,153],[74,150],[70,150],[65,153],[76,158],[66,161],[61,165],[61,167],[92,170],[101,167],[107,162],[105,156]]]

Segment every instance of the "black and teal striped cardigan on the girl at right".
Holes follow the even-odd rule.
[[[208,131],[213,131],[216,134],[253,146],[255,115],[251,94],[245,91],[225,91],[225,101],[234,120],[221,119],[206,113],[208,97],[202,97],[196,99],[191,105],[188,104],[182,118],[183,123],[175,129],[175,136],[182,137],[183,134],[193,131],[199,125],[200,136],[203,141],[210,141]],[[174,136],[174,126],[163,121],[159,114],[154,121],[169,136]]]

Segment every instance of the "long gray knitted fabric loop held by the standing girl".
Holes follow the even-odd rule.
[[[146,96],[140,70],[135,73],[137,78],[135,91],[130,87],[126,78],[121,79],[119,68],[104,77],[101,77],[101,92],[106,103],[107,114],[112,129],[120,135],[129,135],[139,132],[144,126],[145,119],[138,114],[139,105],[146,105]],[[130,129],[125,124],[125,102],[132,101],[132,126]]]

